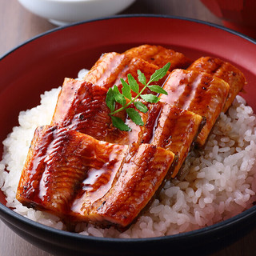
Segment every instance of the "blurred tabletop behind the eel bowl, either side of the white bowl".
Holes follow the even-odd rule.
[[[221,19],[212,14],[200,0],[137,0],[119,14],[168,14],[222,24]],[[54,27],[46,18],[26,10],[17,0],[0,0],[0,56]]]

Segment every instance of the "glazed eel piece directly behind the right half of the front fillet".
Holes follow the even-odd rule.
[[[155,121],[154,134],[150,139],[150,144],[161,146],[178,156],[177,162],[171,170],[171,178],[175,178],[186,156],[193,149],[198,133],[202,130],[206,120],[199,114],[182,110],[165,102],[158,102],[159,106],[161,111]]]

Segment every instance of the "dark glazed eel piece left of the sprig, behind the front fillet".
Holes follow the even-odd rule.
[[[127,132],[112,126],[106,106],[107,90],[86,81],[65,78],[51,126],[66,127],[106,142],[122,142]],[[119,114],[124,118],[123,113]]]

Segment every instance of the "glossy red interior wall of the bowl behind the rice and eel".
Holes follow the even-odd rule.
[[[166,46],[191,59],[214,56],[238,66],[247,80],[242,97],[256,111],[253,40],[218,26],[186,19],[120,16],[53,30],[1,58],[0,118],[4,126],[0,140],[18,125],[21,110],[38,105],[44,91],[61,86],[65,77],[76,78],[82,68],[90,69],[102,53],[122,53],[145,43]],[[0,202],[6,204],[2,191]]]

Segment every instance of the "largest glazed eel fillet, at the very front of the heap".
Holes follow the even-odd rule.
[[[17,198],[74,222],[133,222],[162,185],[174,154],[150,144],[122,146],[57,126],[35,130]]]

